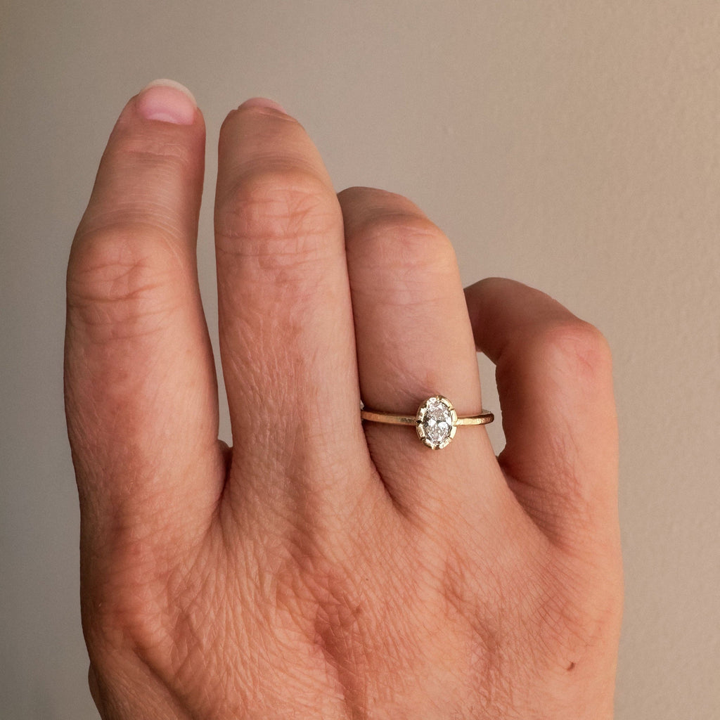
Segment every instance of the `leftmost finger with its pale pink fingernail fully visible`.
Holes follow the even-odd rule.
[[[153,86],[128,102],[68,266],[66,405],[84,524],[186,532],[222,485],[197,285],[204,124]]]

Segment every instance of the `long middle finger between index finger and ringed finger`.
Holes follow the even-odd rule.
[[[292,478],[310,512],[330,497],[338,511],[352,507],[348,493],[364,490],[356,480],[364,438],[333,186],[302,126],[264,100],[228,115],[219,153],[215,237],[230,490],[264,505]]]

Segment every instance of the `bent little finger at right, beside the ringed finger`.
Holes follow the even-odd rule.
[[[500,464],[536,523],[577,546],[616,535],[617,430],[606,341],[546,294],[505,279],[467,288],[477,348],[497,366]]]

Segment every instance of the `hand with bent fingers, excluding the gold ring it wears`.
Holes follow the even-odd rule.
[[[254,100],[220,132],[217,387],[195,264],[204,124],[154,86],[109,139],[68,269],[66,406],[104,718],[592,719],[621,616],[611,360],[544,294],[465,294],[403,197],[336,195]],[[467,302],[467,305],[466,305]],[[507,446],[412,428],[440,392]]]

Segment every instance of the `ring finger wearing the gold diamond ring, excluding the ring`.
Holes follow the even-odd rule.
[[[449,240],[399,195],[352,188],[339,197],[363,402],[414,415],[441,394],[461,416],[480,412],[472,328]],[[456,508],[451,495],[474,508],[506,490],[492,477],[497,464],[484,428],[459,428],[438,451],[423,446],[414,428],[367,421],[364,428],[374,463],[403,508]],[[481,472],[486,482],[479,485]]]

